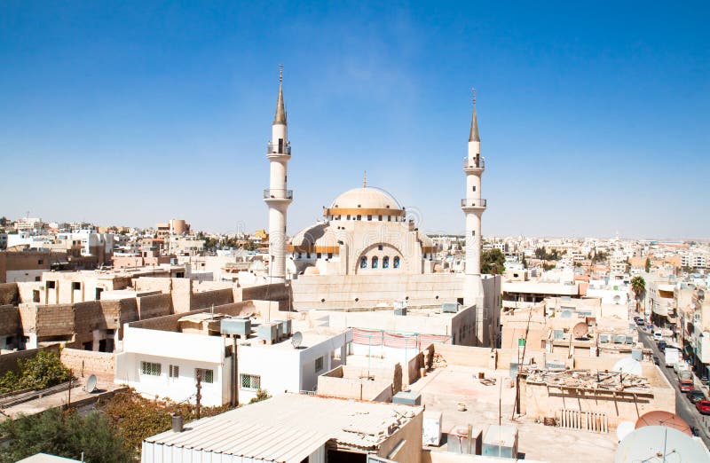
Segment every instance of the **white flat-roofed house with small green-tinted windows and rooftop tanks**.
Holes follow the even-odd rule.
[[[319,374],[340,365],[352,340],[350,330],[310,328],[288,320],[300,333],[295,346],[290,334],[264,337],[276,326],[257,311],[268,302],[238,302],[201,311],[130,323],[124,327],[122,349],[116,356],[116,382],[145,396],[167,396],[194,403],[196,376],[202,373],[201,403],[247,404],[259,390],[270,394],[315,390]],[[253,328],[234,342],[220,336],[220,326],[231,316],[252,316]],[[280,323],[280,322],[279,322]],[[279,325],[281,326],[281,325]]]

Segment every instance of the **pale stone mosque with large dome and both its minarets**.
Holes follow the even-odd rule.
[[[485,170],[474,94],[468,155],[463,159],[466,194],[461,200],[466,224],[465,271],[452,273],[438,260],[434,242],[407,218],[389,192],[367,185],[339,195],[323,208],[318,223],[286,235],[288,206],[288,120],[280,74],[272,140],[266,157],[270,163],[269,189],[264,201],[269,208],[269,279],[290,286],[295,310],[374,310],[392,308],[395,302],[410,307],[435,308],[458,302],[476,306],[478,345],[487,345],[490,330],[498,325],[501,279],[481,275],[481,198]]]

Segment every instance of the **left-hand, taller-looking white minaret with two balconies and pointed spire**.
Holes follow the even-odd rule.
[[[283,105],[283,67],[279,66],[279,98],[273,117],[272,141],[266,149],[269,160],[269,189],[264,190],[264,201],[269,207],[269,276],[272,283],[286,281],[286,211],[293,200],[287,190],[287,164],[291,159],[288,143],[286,108]]]

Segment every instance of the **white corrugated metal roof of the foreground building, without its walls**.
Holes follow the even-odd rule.
[[[268,461],[300,461],[329,440],[376,449],[421,407],[286,394],[193,421],[146,443]]]

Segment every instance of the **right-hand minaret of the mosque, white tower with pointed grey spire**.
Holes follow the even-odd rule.
[[[478,136],[476,116],[476,90],[473,90],[473,114],[469,132],[469,155],[463,159],[466,174],[466,198],[461,200],[461,209],[466,215],[466,277],[463,291],[464,305],[477,303],[483,296],[481,282],[481,216],[485,200],[481,199],[481,176],[485,170],[481,157],[481,138]]]

